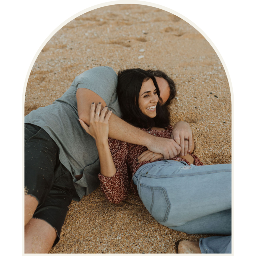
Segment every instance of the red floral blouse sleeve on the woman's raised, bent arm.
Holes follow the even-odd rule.
[[[108,139],[110,152],[116,167],[116,174],[105,177],[98,174],[100,186],[107,199],[114,204],[123,201],[129,191],[129,177],[126,159],[128,155],[127,143],[120,140]]]

